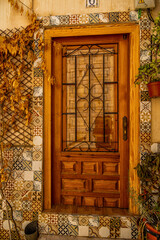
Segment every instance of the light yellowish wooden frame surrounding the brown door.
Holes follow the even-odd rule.
[[[139,192],[139,180],[134,170],[140,159],[139,151],[139,88],[135,87],[135,76],[138,73],[140,58],[140,31],[137,23],[89,25],[89,26],[67,26],[53,27],[45,30],[45,62],[48,72],[51,74],[52,38],[129,34],[129,82],[130,82],[130,103],[129,103],[129,187]],[[51,210],[51,83],[44,77],[44,162],[43,162],[43,209]],[[129,199],[129,212],[136,214],[137,207],[132,198]]]

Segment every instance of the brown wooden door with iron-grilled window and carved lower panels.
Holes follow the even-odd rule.
[[[52,44],[52,203],[128,208],[128,36]]]

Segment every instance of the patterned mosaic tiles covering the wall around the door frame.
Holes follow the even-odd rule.
[[[147,13],[131,12],[97,13],[88,15],[51,16],[43,18],[44,28],[54,25],[77,25],[138,21],[140,24],[141,64],[150,60],[146,50],[150,43],[151,24]],[[40,30],[43,34],[43,29]],[[37,51],[38,54],[38,51]],[[40,59],[39,59],[40,60]],[[4,158],[13,162],[13,173],[7,183],[5,196],[13,207],[13,216],[21,239],[25,226],[38,220],[40,233],[71,236],[137,238],[136,218],[86,215],[62,215],[42,213],[42,162],[43,162],[43,73],[39,60],[33,69],[33,147],[14,148],[4,152]],[[146,86],[141,86],[141,158],[150,152],[151,144],[151,102]],[[11,213],[9,214],[11,219]],[[16,237],[11,221],[12,240]],[[5,201],[0,199],[0,239],[8,239],[9,226]]]

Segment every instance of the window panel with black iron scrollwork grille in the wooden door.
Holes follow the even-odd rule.
[[[63,49],[63,151],[118,151],[116,44]]]

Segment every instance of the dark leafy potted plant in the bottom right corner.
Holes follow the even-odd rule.
[[[135,167],[141,192],[137,198],[140,208],[139,230],[150,240],[160,239],[160,154],[146,154]]]

